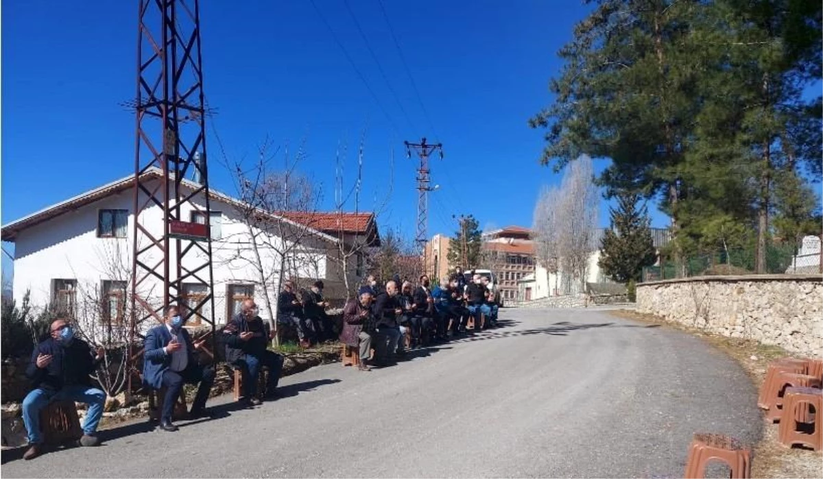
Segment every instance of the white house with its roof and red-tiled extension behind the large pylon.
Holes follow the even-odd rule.
[[[151,182],[160,179],[162,172],[149,170],[145,175],[146,181]],[[181,183],[189,190],[198,188],[198,184],[186,179]],[[30,305],[35,308],[52,305],[68,314],[81,314],[78,309],[91,300],[103,316],[122,319],[132,272],[133,186],[132,175],[2,226],[2,240],[15,244],[13,295],[18,304],[29,291]],[[203,199],[194,198],[193,202],[205,209]],[[239,310],[239,302],[247,297],[255,299],[263,318],[270,317],[264,299],[267,296],[272,307],[276,307],[277,291],[274,290],[280,284],[281,272],[281,255],[277,251],[282,251],[281,246],[290,238],[299,237],[300,247],[291,249],[284,266],[285,274],[297,279],[323,279],[330,286],[326,288],[327,296],[339,294],[339,285],[346,281],[358,284],[365,273],[362,271],[365,251],[350,254],[343,267],[341,254],[351,253],[347,245],[357,241],[372,246],[379,244],[374,215],[370,213],[312,213],[311,226],[300,222],[307,221],[305,214],[269,215],[287,230],[302,233],[272,237],[269,231],[259,236],[266,240],[258,240],[261,258],[258,262],[251,247],[249,226],[241,213],[244,205],[213,189],[210,199],[216,323],[225,323],[226,318]],[[194,211],[182,214],[186,220],[202,222],[203,218],[198,215],[200,213]],[[163,229],[160,207],[147,207],[141,218],[142,225],[160,235]],[[252,231],[255,235],[261,233],[254,226]],[[170,256],[174,257],[174,252]],[[161,303],[160,281],[152,283],[153,279],[140,285],[141,295],[152,297],[152,291],[158,291],[155,300]],[[183,283],[184,301],[189,305],[196,305],[198,297],[205,293],[202,286],[187,287]],[[211,316],[209,311],[202,314]]]

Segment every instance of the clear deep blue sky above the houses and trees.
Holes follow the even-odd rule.
[[[416,160],[406,158],[402,142],[426,136],[443,142],[445,152],[444,160],[432,160],[440,189],[430,195],[430,235],[451,234],[452,215],[461,213],[481,226],[530,225],[539,189],[559,175],[538,165],[542,131],[528,128],[527,119],[551,100],[547,81],[560,68],[556,51],[586,7],[384,0],[421,108],[378,0],[348,4],[397,99],[346,3],[315,2],[377,101],[312,2],[201,2],[205,89],[218,111],[214,129],[207,129],[213,187],[233,192],[215,162],[215,131],[230,160],[252,159],[266,137],[292,148],[305,142],[309,156],[301,169],[322,185],[322,206],[331,207],[335,152],[348,146],[344,181],[351,184],[365,134],[368,200],[360,209],[374,208],[374,198],[380,202],[390,189],[380,225],[412,237]],[[136,6],[4,3],[3,224],[133,172],[134,119],[119,104],[135,90]],[[666,222],[653,212],[656,226]]]

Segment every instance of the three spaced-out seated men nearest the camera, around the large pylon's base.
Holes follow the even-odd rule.
[[[204,366],[198,360],[197,353],[202,350],[206,340],[193,341],[184,328],[185,319],[176,306],[165,309],[163,320],[162,324],[146,333],[142,382],[149,389],[165,388],[165,396],[160,405],[160,429],[173,432],[178,430],[172,422],[174,405],[183,384],[198,385],[187,419],[211,416],[206,409],[206,401],[214,384],[215,370],[213,366]],[[263,398],[276,399],[283,358],[267,350],[274,336],[269,324],[258,316],[258,308],[253,300],[243,301],[242,310],[226,324],[221,334],[226,363],[242,374],[241,400],[248,406],[261,403],[257,379],[262,366],[269,368]],[[92,386],[91,374],[95,373],[104,358],[105,349],[100,347],[92,351],[87,342],[75,336],[75,329],[67,320],[58,319],[51,324],[49,337],[35,347],[26,370],[26,376],[34,388],[26,395],[22,405],[29,441],[29,448],[23,458],[33,459],[44,452],[40,412],[49,402],[88,404],[80,444],[100,444],[96,431],[103,416],[106,394],[100,388]]]

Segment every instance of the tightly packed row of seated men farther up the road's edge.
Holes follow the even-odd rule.
[[[398,286],[399,283],[399,286]],[[416,288],[410,281],[395,277],[379,287],[373,276],[358,291],[358,297],[343,309],[340,341],[359,351],[358,369],[368,371],[372,365],[392,364],[405,356],[403,338],[411,337],[409,346],[426,346],[431,342],[449,341],[455,335],[476,333],[497,326],[498,305],[481,275],[473,275],[465,284],[458,269],[431,289],[429,277],[422,275]],[[468,320],[473,328],[468,329]],[[370,359],[374,348],[374,358]]]

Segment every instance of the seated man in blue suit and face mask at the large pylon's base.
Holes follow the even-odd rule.
[[[165,310],[165,324],[151,328],[146,334],[146,351],[143,353],[143,384],[155,389],[165,387],[166,393],[160,413],[160,429],[174,431],[171,422],[174,402],[183,384],[200,384],[194,397],[189,417],[207,416],[206,400],[214,384],[214,369],[203,368],[194,353],[205,340],[192,342],[183,328],[183,319],[176,306]]]

